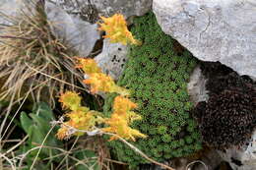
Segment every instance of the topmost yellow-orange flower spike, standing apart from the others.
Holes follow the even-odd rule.
[[[120,42],[123,45],[127,43],[141,45],[141,42],[135,39],[132,33],[128,30],[126,21],[121,14],[115,14],[112,17],[100,17],[103,23],[99,23],[99,30],[104,30],[104,37],[109,38],[110,42]]]

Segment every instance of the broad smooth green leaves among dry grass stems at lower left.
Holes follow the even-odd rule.
[[[21,124],[25,132],[29,135],[29,140],[20,147],[21,153],[25,153],[28,150],[32,149],[35,146],[40,145],[46,138],[48,132],[51,130],[50,122],[54,120],[53,113],[50,107],[46,103],[36,103],[34,104],[33,111],[28,116],[27,113],[21,113]],[[53,129],[52,132],[48,135],[47,139],[43,145],[53,146],[63,148],[63,143],[58,141],[55,138],[56,129]],[[26,163],[30,167],[34,156],[37,154],[38,149],[32,150],[26,158]],[[59,154],[60,151],[50,148],[42,148],[38,155],[38,160],[36,161],[36,169],[49,169],[51,162],[59,162],[62,156],[58,156],[52,159],[49,159],[48,163],[41,161],[43,158],[51,157]]]

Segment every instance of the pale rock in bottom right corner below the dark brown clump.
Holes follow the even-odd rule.
[[[256,130],[251,141],[240,148],[232,147],[219,151],[225,161],[235,170],[255,170],[256,169]]]

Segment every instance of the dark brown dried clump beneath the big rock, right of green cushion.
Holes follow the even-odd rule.
[[[219,148],[246,142],[256,128],[255,83],[230,70],[209,78],[209,101],[195,109],[204,142]]]

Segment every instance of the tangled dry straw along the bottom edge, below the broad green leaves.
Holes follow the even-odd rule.
[[[50,132],[49,132],[50,133]],[[45,140],[47,136],[45,137]],[[84,149],[82,145],[78,144],[79,138],[77,138],[72,144],[71,148],[61,148],[61,147],[52,147],[44,145],[44,143],[37,143],[38,146],[32,147],[32,149],[27,152],[21,153],[17,151],[15,148],[22,146],[22,144],[27,140],[27,138],[20,140],[14,147],[9,148],[6,151],[0,152],[0,169],[3,170],[19,170],[19,169],[34,169],[37,161],[43,161],[45,163],[50,162],[51,169],[53,170],[72,170],[76,169],[78,165],[84,165],[87,169],[91,170],[110,170],[109,164],[114,162],[111,159],[104,158],[103,160],[99,160],[98,156],[95,157],[85,157],[84,159],[78,159],[74,156],[74,152],[78,150]],[[36,144],[36,143],[35,143]],[[33,163],[31,166],[28,166],[25,162],[27,156],[32,151],[37,151],[37,154],[40,153],[42,148],[50,148],[52,150],[58,150],[60,153],[54,156],[45,157],[43,159],[37,159],[34,157]],[[55,157],[63,157],[62,161],[58,162],[58,164],[53,163],[53,159]],[[116,162],[115,162],[116,163]],[[119,162],[117,162],[119,163]],[[97,167],[97,168],[96,168]]]

